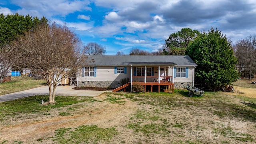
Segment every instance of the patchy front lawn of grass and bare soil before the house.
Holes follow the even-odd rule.
[[[57,96],[42,106],[33,96],[0,103],[0,143],[253,144],[256,98],[227,92],[188,97],[169,93],[106,92]],[[12,135],[12,137],[10,137]]]

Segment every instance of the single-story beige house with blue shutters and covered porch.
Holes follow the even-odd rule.
[[[77,72],[77,86],[118,88],[120,80],[129,78],[145,86],[194,85],[197,65],[189,56],[87,56]]]

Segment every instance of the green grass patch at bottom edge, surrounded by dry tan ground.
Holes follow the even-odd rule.
[[[96,125],[79,126],[71,128],[60,128],[56,130],[54,141],[58,144],[98,144],[101,141],[108,142],[118,134],[116,128],[99,128]]]

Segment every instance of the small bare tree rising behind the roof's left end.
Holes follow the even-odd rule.
[[[84,46],[84,54],[103,56],[106,54],[106,47],[101,44],[97,44],[96,42],[90,42]]]

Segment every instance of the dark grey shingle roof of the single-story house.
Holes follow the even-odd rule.
[[[128,66],[128,65],[177,65],[197,66],[189,56],[87,56],[85,65]]]

